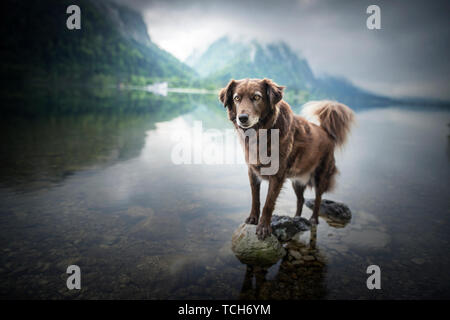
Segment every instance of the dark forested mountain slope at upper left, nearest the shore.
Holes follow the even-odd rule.
[[[69,30],[66,9],[81,9]],[[107,0],[11,1],[2,20],[2,74],[21,81],[188,79],[187,65],[155,45],[141,15]]]

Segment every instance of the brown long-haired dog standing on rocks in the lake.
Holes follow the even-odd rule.
[[[257,224],[256,233],[260,239],[270,235],[270,220],[275,202],[286,179],[292,181],[297,195],[296,216],[302,214],[303,193],[307,186],[316,193],[311,222],[319,223],[318,214],[322,194],[334,185],[337,168],[334,149],[343,145],[353,122],[353,111],[333,101],[308,103],[304,111],[318,118],[320,126],[295,115],[291,107],[282,100],[284,87],[269,79],[231,80],[219,93],[219,99],[227,108],[228,118],[239,131],[248,164],[248,176],[252,189],[252,209],[245,221]],[[259,159],[250,163],[249,139],[245,131],[272,129],[279,131],[279,163],[276,174],[261,174],[266,165]],[[244,133],[244,134],[243,134]],[[267,142],[270,143],[270,134]],[[260,148],[259,143],[257,144]],[[270,148],[268,148],[270,149]],[[260,214],[261,179],[269,181],[266,202]],[[259,223],[258,223],[259,222]]]

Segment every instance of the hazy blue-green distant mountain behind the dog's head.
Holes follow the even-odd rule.
[[[380,105],[393,101],[360,89],[344,78],[316,77],[308,61],[284,42],[261,44],[256,40],[233,41],[225,36],[202,54],[189,57],[186,63],[220,86],[232,78],[271,78],[287,86],[287,95],[297,104],[311,99],[335,99],[357,108],[362,102]]]

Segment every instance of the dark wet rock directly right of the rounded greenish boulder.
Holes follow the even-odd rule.
[[[272,233],[280,241],[289,241],[297,233],[308,231],[311,228],[311,223],[302,217],[288,217],[288,216],[272,216]]]

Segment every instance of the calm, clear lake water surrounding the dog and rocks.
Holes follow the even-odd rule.
[[[3,299],[450,298],[448,109],[360,106],[324,196],[352,220],[321,218],[315,263],[266,272],[231,251],[251,203],[245,164],[173,161],[174,130],[232,128],[214,95],[39,89],[2,105]],[[295,201],[286,183],[275,214]],[[66,287],[72,264],[81,290]],[[381,290],[366,287],[372,264]]]

